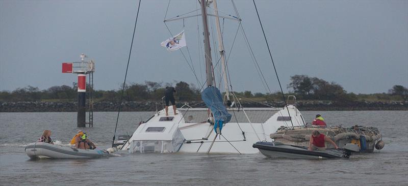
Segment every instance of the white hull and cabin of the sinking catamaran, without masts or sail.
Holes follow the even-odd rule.
[[[269,134],[276,132],[279,127],[292,126],[292,122],[294,126],[303,126],[303,118],[296,107],[289,105],[288,108],[247,108],[245,112],[228,110],[232,113],[233,119],[224,125],[221,135],[215,140],[214,125],[206,121],[207,109],[179,109],[177,115],[169,112],[168,117],[171,120],[164,120],[165,111],[161,110],[140,125],[129,141],[123,144],[121,150],[128,150],[131,153],[258,153],[259,150],[252,148],[252,144],[258,141],[271,141]],[[292,122],[289,120],[288,110]],[[248,118],[256,122],[248,122]],[[150,130],[159,128],[163,130],[160,132]],[[180,148],[180,143],[172,143],[175,141],[174,136],[180,136],[175,135],[178,134],[176,129],[184,137]]]

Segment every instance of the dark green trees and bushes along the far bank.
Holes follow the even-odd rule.
[[[123,84],[122,84],[123,85]],[[123,101],[160,101],[164,96],[166,86],[171,83],[145,81],[144,83],[126,83],[123,91]],[[77,83],[72,86],[52,86],[44,90],[38,87],[27,86],[13,91],[0,91],[2,102],[22,101],[48,101],[64,102],[77,100]],[[177,93],[174,95],[179,102],[201,101],[201,89],[194,84],[184,81],[175,83]],[[348,93],[344,88],[335,83],[327,82],[316,77],[307,75],[291,76],[291,82],[287,88],[287,94],[295,95],[298,100],[331,100],[331,101],[408,101],[408,89],[402,85],[394,85],[387,93],[359,94]],[[87,85],[87,97],[89,98],[90,86]],[[118,102],[122,96],[122,86],[117,90],[93,90],[92,98],[98,101]],[[256,101],[281,101],[279,91],[272,94],[261,92],[252,93],[249,90],[234,92],[238,98],[248,98]]]

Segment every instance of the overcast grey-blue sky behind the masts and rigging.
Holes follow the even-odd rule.
[[[252,1],[235,3],[271,90],[279,90]],[[387,92],[395,84],[408,86],[408,1],[256,3],[285,91],[290,76],[300,74],[335,81],[355,93]],[[167,4],[142,1],[127,82],[198,84],[181,52],[160,46],[170,36],[163,23]],[[171,1],[167,18],[196,6],[196,1]],[[219,1],[218,8],[235,15],[231,1]],[[96,61],[95,89],[118,89],[136,10],[136,1],[0,1],[0,90],[71,86],[77,77],[61,73],[61,63],[79,61],[81,53]],[[210,26],[215,30],[213,21]],[[202,52],[199,57],[202,37],[198,38],[197,18],[184,23],[196,75],[202,81],[205,68]],[[234,90],[267,92],[241,32],[231,51],[238,23],[221,20],[221,24],[225,50],[231,53],[228,67]],[[183,21],[168,26],[175,35],[183,29]],[[214,36],[211,33],[210,39]],[[189,59],[187,49],[182,50]]]

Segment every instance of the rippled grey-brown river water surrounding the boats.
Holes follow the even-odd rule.
[[[24,145],[43,130],[69,143],[75,112],[0,113],[0,185],[408,185],[408,111],[303,111],[321,114],[328,125],[373,126],[386,145],[349,160],[270,159],[262,154],[129,154],[91,160],[36,160]],[[120,113],[117,134],[132,134],[152,112]],[[94,112],[94,127],[82,129],[108,148],[116,112]]]

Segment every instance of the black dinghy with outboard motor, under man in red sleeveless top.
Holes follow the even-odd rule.
[[[288,159],[337,159],[345,158],[345,151],[341,149],[326,149],[326,151],[310,151],[307,147],[286,145],[272,142],[257,142],[252,145],[269,158]]]

